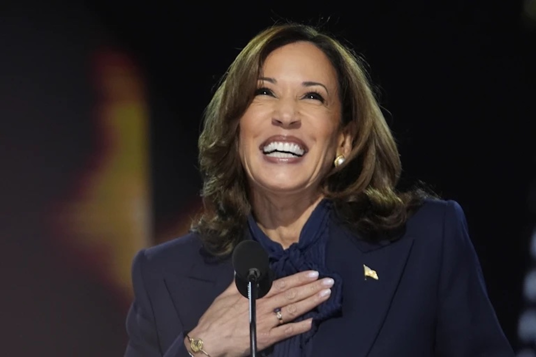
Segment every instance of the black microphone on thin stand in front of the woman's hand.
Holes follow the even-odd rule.
[[[249,341],[251,357],[257,355],[256,300],[264,297],[272,287],[273,275],[268,254],[254,240],[241,241],[233,252],[235,284],[238,291],[249,300]]]

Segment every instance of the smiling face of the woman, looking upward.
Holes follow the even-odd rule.
[[[253,190],[318,191],[348,140],[339,132],[336,70],[309,42],[280,47],[266,58],[256,96],[240,119],[239,153]]]

